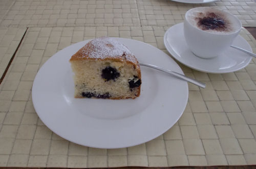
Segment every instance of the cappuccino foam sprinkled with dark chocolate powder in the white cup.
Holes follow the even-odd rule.
[[[210,33],[229,34],[240,29],[235,18],[214,8],[195,8],[186,17],[191,25]]]

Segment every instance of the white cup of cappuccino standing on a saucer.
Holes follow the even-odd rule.
[[[225,30],[202,30],[199,26],[200,17],[205,18],[212,12],[218,14],[222,18],[224,17],[223,19],[225,23],[227,23]],[[189,49],[201,58],[219,56],[222,52],[228,49],[228,47],[230,47],[234,38],[236,38],[241,31],[241,28],[241,21],[236,16],[219,9],[198,7],[188,10],[185,14],[185,40]]]

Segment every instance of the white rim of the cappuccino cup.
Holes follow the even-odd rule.
[[[198,8],[214,9],[214,10],[223,12],[223,13],[229,15],[229,16],[232,16],[232,17],[234,17],[234,18],[239,22],[239,26],[240,26],[240,27],[239,27],[239,29],[238,29],[237,31],[235,31],[235,32],[230,32],[230,33],[226,33],[226,34],[216,34],[216,33],[212,33],[212,32],[203,31],[203,30],[201,30],[201,29],[199,29],[199,28],[193,26],[193,25],[188,21],[188,19],[187,19],[188,13],[189,13],[191,10],[195,10],[195,9],[198,9]],[[186,20],[187,23],[188,23],[190,26],[192,26],[193,28],[195,28],[195,29],[197,29],[197,30],[199,30],[199,31],[202,31],[202,32],[205,32],[205,33],[209,33],[209,34],[214,34],[214,35],[222,35],[222,36],[224,36],[224,35],[236,34],[236,33],[240,32],[241,29],[242,29],[242,22],[238,19],[237,16],[234,16],[233,14],[231,14],[231,13],[229,13],[229,12],[226,12],[226,11],[223,11],[223,10],[220,10],[220,9],[217,9],[217,8],[212,8],[212,7],[196,7],[196,8],[191,8],[191,9],[189,9],[189,10],[185,13],[185,20]]]

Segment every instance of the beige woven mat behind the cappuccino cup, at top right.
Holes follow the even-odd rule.
[[[189,1],[189,0],[188,0]],[[193,0],[190,0],[193,2]],[[184,4],[170,0],[138,0],[141,26],[172,26],[183,22],[187,10],[214,7],[237,16],[244,27],[256,27],[256,3],[253,0],[222,0],[207,4]]]

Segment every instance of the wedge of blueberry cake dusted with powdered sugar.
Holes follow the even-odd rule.
[[[110,37],[93,39],[71,59],[75,98],[135,99],[140,95],[139,62]]]

